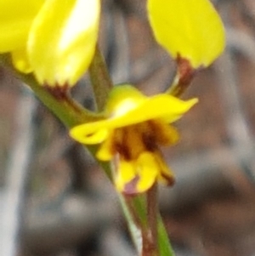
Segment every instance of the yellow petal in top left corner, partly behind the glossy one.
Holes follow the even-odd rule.
[[[31,23],[44,0],[0,1],[0,53],[25,47]]]

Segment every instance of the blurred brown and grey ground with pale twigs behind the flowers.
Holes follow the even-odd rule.
[[[103,2],[100,46],[113,81],[163,91],[175,65],[152,37],[145,1]],[[184,94],[200,103],[177,122],[182,139],[165,151],[177,183],[161,188],[161,212],[177,256],[252,256],[255,2],[213,3],[227,48]],[[135,255],[97,164],[25,85],[4,68],[0,79],[0,255]],[[86,76],[72,94],[93,107]]]

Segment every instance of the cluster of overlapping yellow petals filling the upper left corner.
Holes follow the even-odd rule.
[[[99,30],[99,0],[3,0],[0,53],[48,86],[71,86],[88,69]]]

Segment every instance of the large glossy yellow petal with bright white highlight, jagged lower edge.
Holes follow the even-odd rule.
[[[88,69],[99,30],[99,0],[48,0],[31,27],[28,54],[38,82],[73,85]]]

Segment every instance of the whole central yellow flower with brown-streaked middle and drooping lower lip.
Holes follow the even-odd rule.
[[[160,146],[178,141],[178,132],[169,123],[196,102],[168,94],[146,97],[130,85],[117,86],[105,107],[105,119],[78,125],[70,134],[85,145],[101,144],[99,160],[115,159],[118,191],[142,193],[156,181],[173,184],[173,173],[163,160]]]

